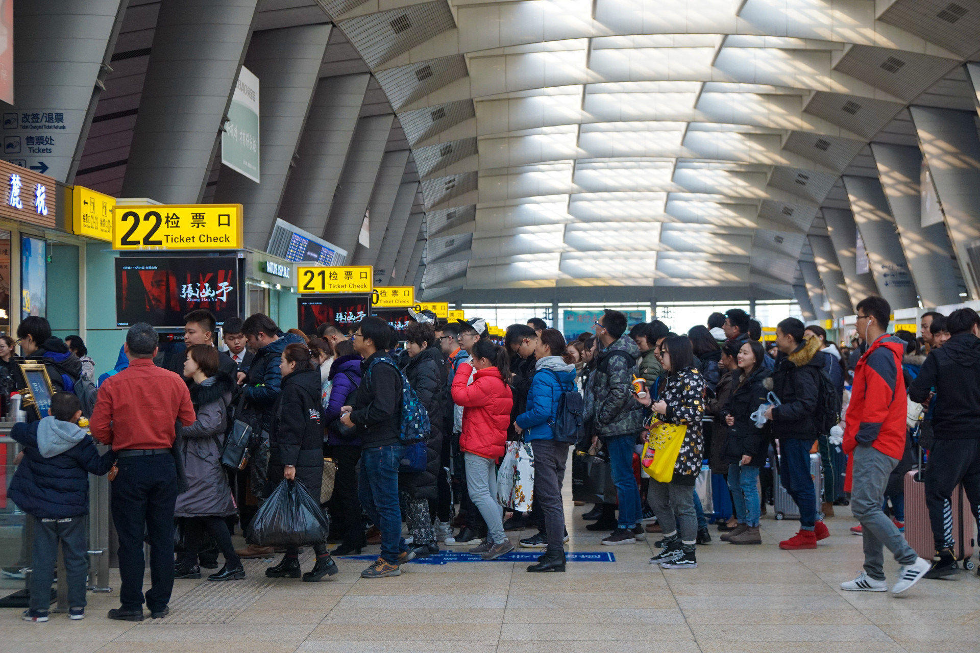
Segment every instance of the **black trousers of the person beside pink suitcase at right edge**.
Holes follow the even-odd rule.
[[[980,438],[937,440],[925,470],[925,505],[936,549],[953,548],[953,491],[960,483],[974,515],[980,515]],[[967,538],[974,534],[966,533]]]

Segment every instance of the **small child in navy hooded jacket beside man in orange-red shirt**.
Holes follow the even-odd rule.
[[[68,575],[69,616],[84,616],[88,475],[102,476],[116,460],[111,450],[100,456],[92,437],[77,425],[81,417],[77,396],[55,393],[50,413],[39,422],[18,422],[10,434],[24,446],[10,497],[34,518],[30,604],[24,613],[28,622],[48,621],[59,539]]]

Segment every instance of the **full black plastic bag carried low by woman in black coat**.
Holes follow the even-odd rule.
[[[320,544],[329,531],[319,500],[299,481],[283,479],[252,518],[245,541],[257,546]]]

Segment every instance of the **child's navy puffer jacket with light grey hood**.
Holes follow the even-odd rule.
[[[10,435],[24,446],[24,460],[10,484],[14,503],[37,519],[87,515],[88,475],[109,472],[116,453],[100,456],[85,429],[52,416],[18,422]]]

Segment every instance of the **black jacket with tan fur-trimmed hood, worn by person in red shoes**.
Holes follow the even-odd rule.
[[[786,440],[815,440],[813,413],[820,389],[820,371],[827,354],[819,338],[804,339],[790,354],[776,356],[772,384],[780,405],[772,409],[772,437]]]

